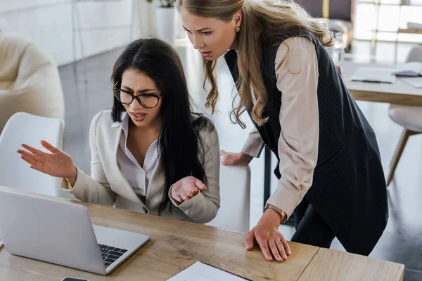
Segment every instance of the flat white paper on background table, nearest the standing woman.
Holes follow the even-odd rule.
[[[392,74],[393,72],[395,72],[395,68],[359,67],[350,77],[350,80],[392,84],[396,80],[395,74]]]

